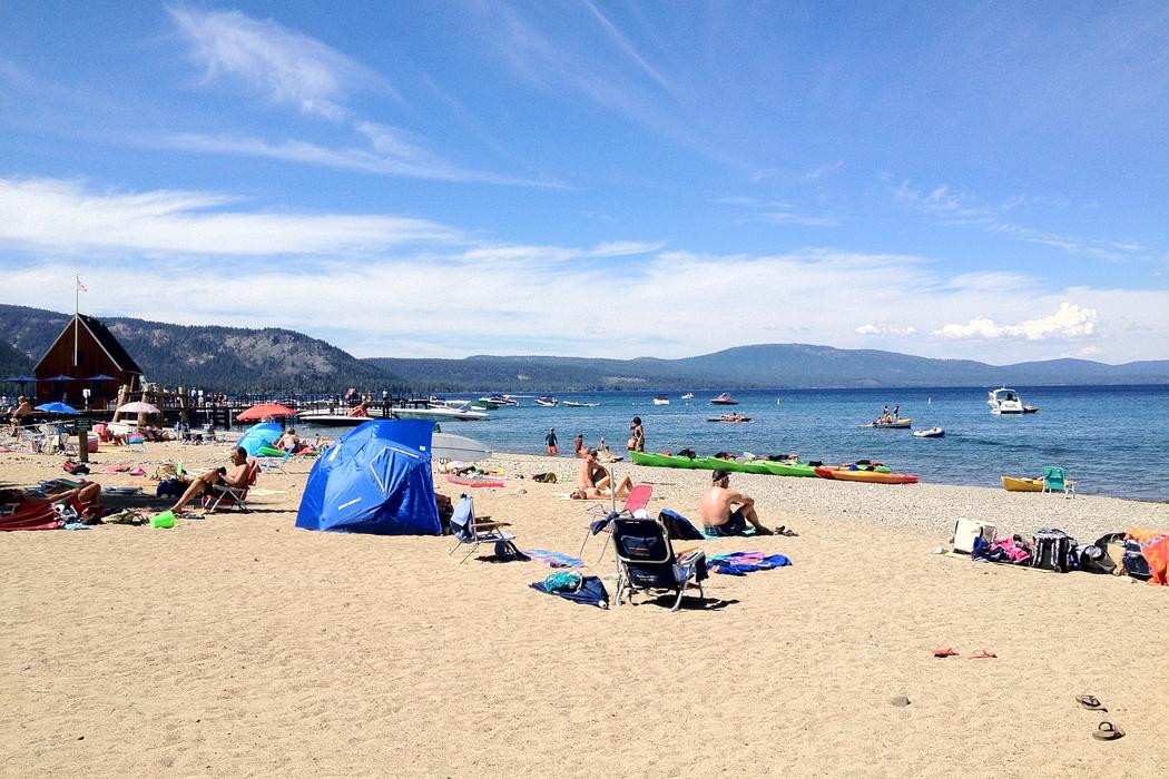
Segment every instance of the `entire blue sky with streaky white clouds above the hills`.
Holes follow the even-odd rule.
[[[943,5],[2,4],[0,300],[79,273],[359,356],[1169,357],[1169,11]]]

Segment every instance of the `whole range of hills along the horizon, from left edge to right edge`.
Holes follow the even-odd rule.
[[[69,314],[0,304],[0,371],[29,373]],[[103,318],[148,381],[224,392],[729,390],[750,388],[1169,384],[1169,360],[991,366],[804,343],[740,346],[678,360],[476,355],[369,357],[296,331]]]

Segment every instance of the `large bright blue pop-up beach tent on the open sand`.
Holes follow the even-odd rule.
[[[317,459],[296,526],[378,535],[440,535],[430,477],[433,422],[367,422]]]

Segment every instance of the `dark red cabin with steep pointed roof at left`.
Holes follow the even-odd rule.
[[[101,410],[117,399],[119,388],[140,389],[143,371],[105,325],[74,314],[33,375],[39,402],[62,401],[84,409],[88,389],[89,408]]]

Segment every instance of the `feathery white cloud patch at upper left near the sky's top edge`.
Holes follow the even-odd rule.
[[[320,41],[238,11],[168,7],[208,81],[230,76],[303,113],[343,119],[348,91],[380,79]]]

